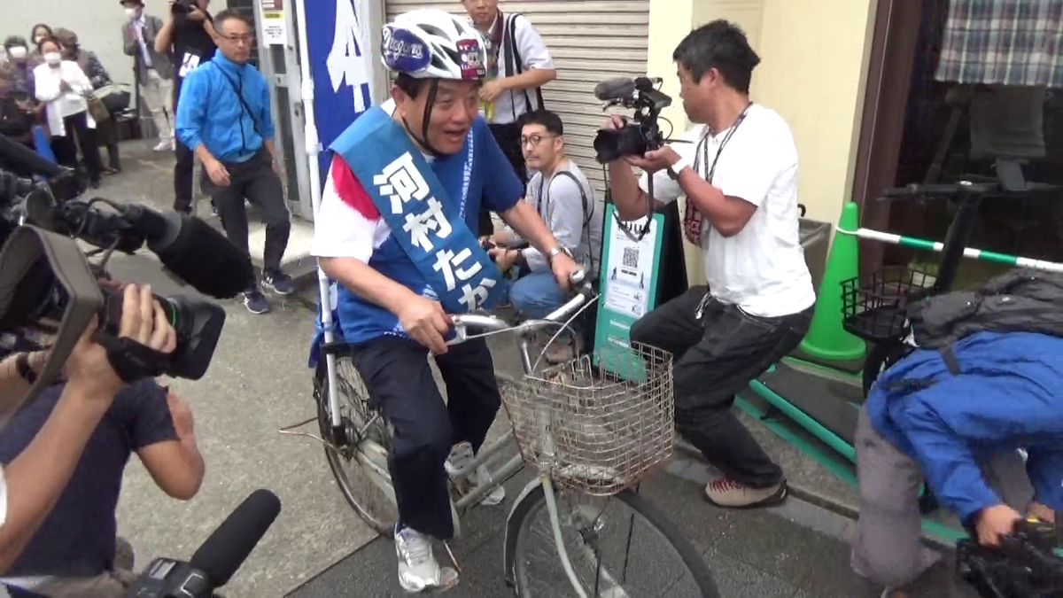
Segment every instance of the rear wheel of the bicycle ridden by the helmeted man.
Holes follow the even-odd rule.
[[[391,428],[369,406],[369,393],[351,358],[336,355],[336,385],[339,391],[340,428],[334,430],[328,410],[328,376],[325,360],[318,364],[314,398],[318,425],[325,445],[325,459],[348,503],[371,528],[391,537],[399,520],[394,491],[387,474],[391,450]],[[372,442],[365,442],[372,441]],[[370,461],[366,465],[360,460]],[[383,470],[383,476],[377,471]]]

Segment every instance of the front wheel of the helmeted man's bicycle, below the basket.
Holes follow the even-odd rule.
[[[555,497],[561,539],[587,596],[719,598],[705,560],[642,496],[627,489],[602,499]],[[541,485],[513,509],[506,542],[517,596],[575,595]]]

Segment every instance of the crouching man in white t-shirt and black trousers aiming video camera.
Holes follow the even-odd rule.
[[[687,197],[684,229],[705,251],[708,287],[696,286],[646,314],[631,340],[675,355],[676,429],[724,477],[705,492],[719,506],[767,506],[787,496],[782,470],[731,412],[735,394],[793,350],[812,319],[815,293],[797,233],[797,150],[786,121],[749,101],[760,62],[745,34],[716,20],[692,31],[672,55],[684,110],[698,123],[687,143],[609,165],[620,216],[654,200]],[[606,129],[624,126],[612,117]]]

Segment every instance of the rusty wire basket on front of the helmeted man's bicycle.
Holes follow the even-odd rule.
[[[672,458],[672,356],[660,349],[613,347],[525,376],[502,396],[524,462],[563,488],[610,496]]]

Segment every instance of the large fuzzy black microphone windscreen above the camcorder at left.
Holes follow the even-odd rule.
[[[148,249],[166,269],[196,290],[230,299],[254,284],[251,256],[202,219],[142,205],[124,206],[121,213],[145,235]]]

